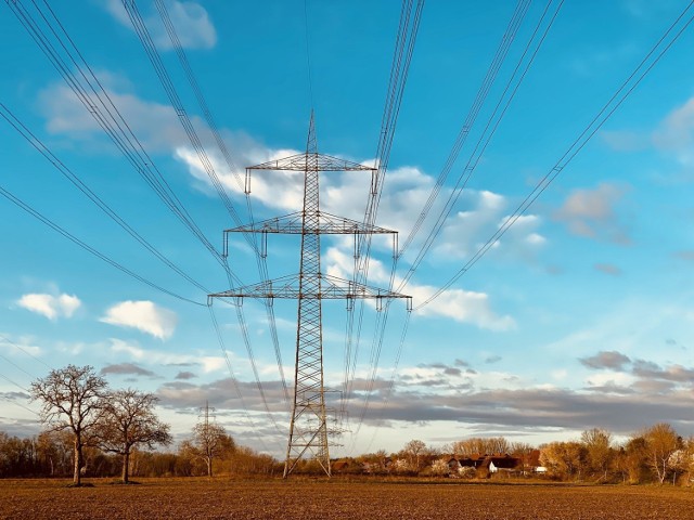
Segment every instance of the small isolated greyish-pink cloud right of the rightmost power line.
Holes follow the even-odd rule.
[[[575,235],[628,245],[631,243],[628,229],[615,211],[626,192],[625,186],[605,182],[592,190],[574,190],[554,212],[554,219],[565,223]]]

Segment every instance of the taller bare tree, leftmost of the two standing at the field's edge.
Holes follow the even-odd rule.
[[[81,484],[82,448],[99,420],[107,391],[105,379],[87,366],[67,365],[31,382],[31,399],[42,402],[40,417],[53,431],[73,433],[75,485]]]

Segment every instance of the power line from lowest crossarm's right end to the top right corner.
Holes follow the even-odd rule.
[[[680,38],[684,30],[694,21],[694,16],[691,16],[682,25],[682,27],[674,34],[672,39],[665,44],[661,51],[657,53],[655,58],[646,66],[651,57],[656,54],[658,48],[665,42],[670,32],[672,32],[678,24],[684,18],[687,11],[694,5],[694,1],[682,11],[677,20],[665,31],[660,39],[655,43],[645,57],[639,63],[629,77],[621,83],[619,89],[613,94],[613,96],[603,105],[600,112],[588,123],[578,138],[570,144],[567,151],[560,157],[550,171],[536,184],[532,191],[524,198],[518,207],[511,213],[499,229],[489,237],[489,239],[473,255],[473,257],[434,295],[422,302],[415,310],[420,310],[428,306],[436,298],[441,296],[451,285],[453,285],[463,274],[465,274],[477,261],[486,255],[486,252],[509,231],[509,229],[520,218],[523,213],[537,200],[537,198],[549,187],[549,185],[558,177],[558,174],[568,166],[568,164],[583,150],[593,135],[602,128],[602,126],[612,117],[612,115],[621,106],[625,100],[633,92],[633,90],[641,83],[643,78],[653,69],[653,67],[660,61],[663,55],[672,47],[672,44]],[[645,68],[644,68],[645,67]],[[643,70],[642,70],[643,69]],[[640,73],[640,70],[642,70]],[[632,80],[637,78],[631,86]],[[624,92],[620,96],[620,93]]]

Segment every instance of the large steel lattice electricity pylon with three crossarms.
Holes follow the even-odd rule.
[[[229,249],[229,233],[259,233],[260,255],[267,255],[267,235],[270,233],[301,235],[299,273],[260,284],[249,285],[209,295],[209,298],[231,299],[241,304],[242,298],[256,298],[272,304],[274,298],[298,300],[296,328],[296,365],[294,405],[290,422],[290,439],[284,464],[284,478],[297,463],[310,453],[330,477],[329,433],[326,424],[325,387],[323,385],[322,306],[324,299],[345,299],[350,307],[356,299],[374,299],[381,311],[384,299],[411,298],[386,289],[369,287],[355,281],[343,280],[321,271],[321,235],[350,234],[355,236],[355,261],[359,259],[359,235],[390,234],[394,253],[397,251],[397,232],[364,224],[320,210],[319,172],[370,171],[372,190],[375,168],[318,153],[313,114],[309,125],[306,152],[283,159],[271,160],[246,168],[246,194],[250,193],[253,170],[303,171],[304,206],[301,211],[224,231],[224,256]]]

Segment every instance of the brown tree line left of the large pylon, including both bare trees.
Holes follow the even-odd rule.
[[[175,453],[154,452],[171,444],[169,425],[154,413],[157,398],[133,389],[113,390],[91,366],[68,365],[31,382],[48,429],[20,439],[0,431],[0,478],[213,476],[269,473],[277,461],[239,446],[224,429],[205,421]]]

